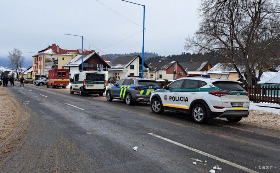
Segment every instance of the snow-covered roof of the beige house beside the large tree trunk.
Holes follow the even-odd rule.
[[[239,66],[238,69],[241,73],[245,72],[244,67]],[[228,74],[228,73],[237,73],[233,64],[231,63],[218,63],[214,65],[210,70],[207,71],[209,74]]]

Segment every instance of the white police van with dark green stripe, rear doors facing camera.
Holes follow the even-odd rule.
[[[106,89],[106,74],[100,71],[80,71],[70,79],[70,94],[99,94],[103,96]]]

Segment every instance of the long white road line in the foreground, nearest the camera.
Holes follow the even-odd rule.
[[[233,162],[229,162],[229,161],[227,161],[227,160],[225,160],[225,159],[221,159],[221,158],[219,158],[219,157],[216,157],[216,156],[213,156],[213,155],[211,155],[211,154],[205,153],[205,152],[203,152],[203,151],[194,149],[194,148],[189,147],[189,146],[186,146],[186,145],[184,145],[184,144],[180,144],[180,143],[178,143],[178,142],[172,141],[172,140],[167,139],[167,138],[164,138],[164,137],[162,137],[162,136],[159,136],[159,135],[156,135],[156,134],[153,134],[153,133],[148,133],[148,134],[149,134],[149,135],[152,135],[152,136],[155,136],[155,137],[157,137],[157,138],[159,138],[159,139],[163,139],[163,140],[165,140],[165,141],[171,142],[171,143],[173,143],[173,144],[175,144],[175,145],[181,146],[181,147],[183,147],[183,148],[185,148],[185,149],[188,149],[188,150],[191,150],[191,151],[195,151],[195,152],[197,152],[197,153],[199,153],[199,154],[202,154],[202,155],[204,155],[204,156],[207,156],[207,157],[210,157],[210,158],[212,158],[212,159],[218,160],[218,161],[223,162],[223,163],[225,163],[225,164],[229,164],[229,165],[231,165],[231,166],[233,166],[233,167],[236,167],[236,168],[238,168],[238,169],[241,169],[241,170],[243,170],[243,171],[251,172],[251,173],[258,173],[258,172],[256,172],[256,171],[253,171],[253,170],[248,169],[248,168],[246,168],[246,167],[243,167],[243,166],[241,166],[241,165],[235,164],[235,163],[233,163]]]

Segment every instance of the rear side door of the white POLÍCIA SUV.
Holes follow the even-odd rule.
[[[182,89],[178,95],[178,108],[179,109],[190,109],[190,103],[195,100],[199,91],[199,83],[197,80],[185,80]]]

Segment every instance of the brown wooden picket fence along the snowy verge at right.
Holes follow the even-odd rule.
[[[264,102],[264,103],[280,103],[280,90],[279,86],[276,87],[261,87],[261,85],[243,86],[249,93],[250,101]]]

